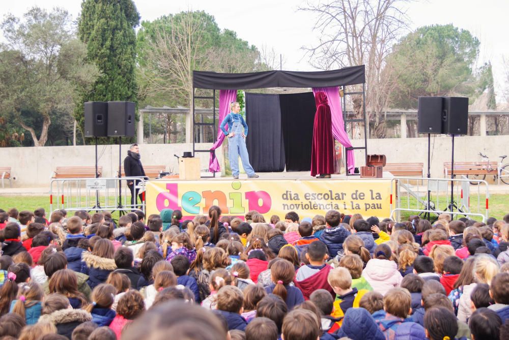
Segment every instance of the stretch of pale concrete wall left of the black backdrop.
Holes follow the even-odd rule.
[[[212,144],[196,144],[196,149],[207,150]],[[127,155],[128,145],[122,145],[122,163]],[[99,166],[103,177],[115,177],[119,168],[119,146],[98,146]],[[144,165],[165,164],[167,170],[178,172],[178,162],[174,154],[182,156],[184,151],[192,151],[192,144],[143,144],[139,146]],[[201,169],[208,169],[209,153],[197,152]],[[217,152],[220,162],[222,155]],[[53,171],[57,166],[95,166],[95,146],[44,146],[0,148],[0,164],[12,167],[13,187],[49,186]],[[221,163],[220,163],[221,164]],[[6,187],[9,185],[6,182]]]

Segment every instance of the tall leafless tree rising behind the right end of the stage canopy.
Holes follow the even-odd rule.
[[[374,122],[377,138],[385,136],[382,115],[391,86],[385,61],[400,33],[408,29],[401,9],[407,1],[335,0],[300,9],[317,15],[314,28],[321,34],[316,46],[303,47],[311,65],[323,70],[365,65],[367,119]]]

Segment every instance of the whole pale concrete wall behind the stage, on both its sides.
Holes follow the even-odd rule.
[[[212,144],[197,144],[197,149],[207,150]],[[354,146],[361,146],[361,140],[353,140]],[[455,138],[455,161],[480,160],[478,153],[483,152],[491,161],[498,161],[498,156],[509,154],[509,136],[475,136]],[[432,177],[443,177],[443,163],[450,162],[450,137],[431,138]],[[0,148],[0,165],[12,167],[12,175],[16,177],[13,186],[44,187],[57,166],[95,165],[94,146],[46,146]],[[127,154],[127,145],[122,146],[122,160]],[[142,162],[145,165],[166,164],[168,169],[178,172],[177,159],[174,154],[182,155],[191,151],[192,144],[143,144],[140,145]],[[428,162],[428,139],[370,139],[367,141],[370,154],[385,154],[388,163]],[[117,145],[100,145],[98,147],[99,165],[103,167],[103,177],[115,176],[119,162]],[[196,153],[201,159],[201,168],[208,168],[209,154]],[[220,164],[221,152],[216,153]],[[364,165],[364,153],[355,152],[356,164]],[[506,159],[509,163],[509,159]],[[426,173],[426,171],[425,171]]]

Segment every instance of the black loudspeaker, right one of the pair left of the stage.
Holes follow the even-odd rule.
[[[108,137],[134,137],[134,109],[131,101],[108,101]]]

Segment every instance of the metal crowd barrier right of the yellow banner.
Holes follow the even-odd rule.
[[[471,186],[471,183],[476,184]],[[454,185],[454,211],[448,210],[450,205],[450,186]],[[476,191],[477,199],[470,200],[471,189]],[[428,195],[430,205],[428,206]],[[406,202],[402,202],[406,198]],[[414,215],[442,213],[455,217],[477,216],[486,222],[489,211],[488,182],[482,179],[462,178],[427,178],[427,177],[393,177],[391,180],[390,218],[400,220],[401,212]]]

